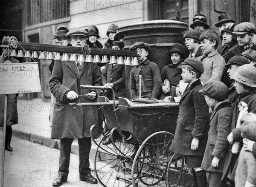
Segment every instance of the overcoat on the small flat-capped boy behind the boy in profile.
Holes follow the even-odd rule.
[[[228,100],[220,102],[212,112],[207,145],[201,164],[202,169],[222,173],[225,155],[229,146],[227,136],[230,133],[232,115],[233,108]],[[214,156],[220,159],[219,167],[212,167]]]

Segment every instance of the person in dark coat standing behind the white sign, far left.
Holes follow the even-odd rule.
[[[3,54],[0,56],[0,63],[4,63],[6,60],[9,60],[12,63],[19,63],[14,57],[10,57],[12,50],[9,48],[9,36],[3,37],[2,47]],[[9,58],[8,58],[9,57]],[[3,116],[4,116],[4,95],[0,96],[0,126],[3,127]],[[18,123],[18,112],[17,112],[17,94],[8,94],[7,96],[7,121],[6,121],[6,141],[5,149],[12,151],[10,146],[12,139],[12,125]]]

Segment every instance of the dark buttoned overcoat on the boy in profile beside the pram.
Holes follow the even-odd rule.
[[[203,88],[200,79],[187,87],[180,98],[175,136],[170,150],[181,155],[204,156],[209,130],[209,107],[204,94],[198,92]],[[197,150],[191,149],[193,138],[199,139]]]

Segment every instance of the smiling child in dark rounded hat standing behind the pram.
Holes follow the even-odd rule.
[[[162,78],[162,96],[160,99],[164,99],[166,96],[172,96],[172,86],[177,86],[181,80],[181,62],[187,57],[186,48],[180,43],[175,43],[169,52],[171,63],[163,67],[161,71]]]

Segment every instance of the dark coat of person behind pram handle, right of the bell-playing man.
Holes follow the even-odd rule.
[[[106,65],[102,72],[103,85],[106,83],[113,83],[113,91],[115,99],[118,97],[125,97],[125,66],[124,65]],[[113,100],[112,92],[107,92],[108,99]]]

